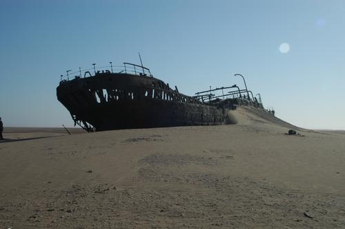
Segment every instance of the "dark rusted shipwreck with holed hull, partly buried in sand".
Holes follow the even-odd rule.
[[[94,75],[87,70],[83,77],[79,70],[75,72],[79,76],[73,79],[67,72],[67,79],[61,75],[57,87],[57,99],[68,109],[75,124],[88,132],[224,124],[228,109],[234,108],[238,100],[219,99],[212,92],[237,88],[226,94],[233,98],[235,94],[242,97],[244,92],[231,86],[190,97],[153,77],[144,66],[124,63],[111,66],[111,70],[96,71],[94,65],[93,70]]]

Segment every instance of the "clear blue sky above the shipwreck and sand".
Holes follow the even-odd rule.
[[[124,61],[193,94],[261,93],[278,117],[345,129],[345,1],[1,0],[0,117],[5,126],[72,126],[57,101],[68,69]],[[282,43],[290,45],[279,52]]]

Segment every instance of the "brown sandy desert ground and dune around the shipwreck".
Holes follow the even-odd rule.
[[[8,130],[21,141],[0,143],[0,228],[345,228],[344,134],[250,108],[230,119]]]

